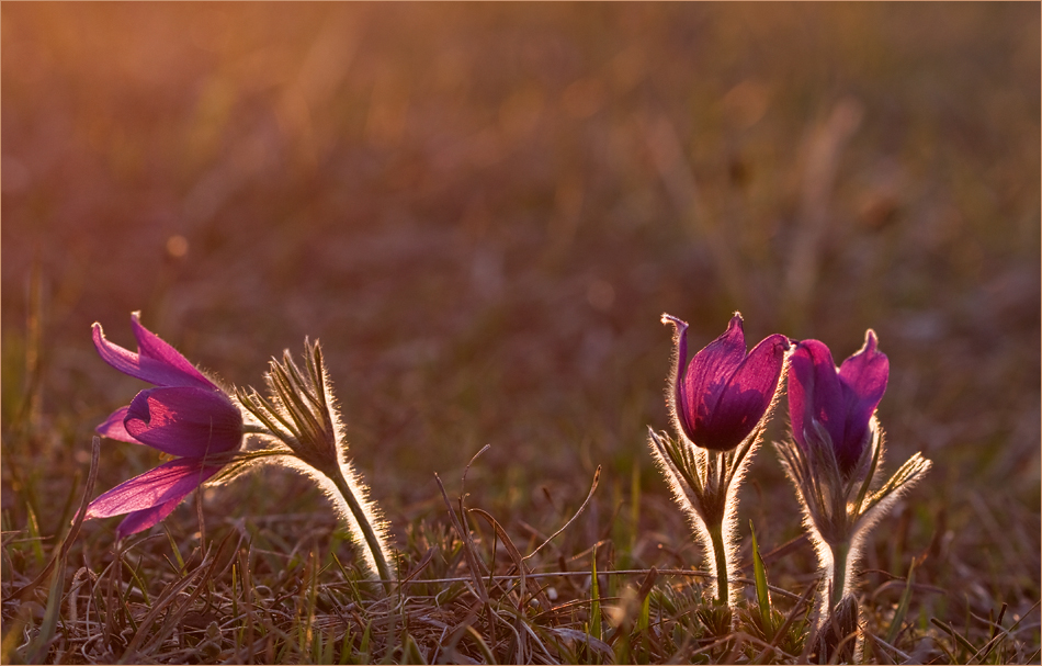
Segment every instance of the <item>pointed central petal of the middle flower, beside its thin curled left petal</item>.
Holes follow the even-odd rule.
[[[735,313],[727,330],[694,354],[680,380],[682,397],[681,424],[688,427],[688,437],[704,428],[712,418],[713,407],[746,355],[741,315]]]

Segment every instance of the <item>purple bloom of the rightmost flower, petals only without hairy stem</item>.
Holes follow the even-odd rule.
[[[833,354],[818,340],[796,345],[789,366],[789,417],[792,436],[804,449],[817,421],[831,439],[839,470],[849,475],[869,444],[869,422],[883,399],[890,360],[879,351],[875,331],[864,335],[864,347],[836,368]]]

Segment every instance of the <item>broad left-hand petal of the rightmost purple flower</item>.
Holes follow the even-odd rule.
[[[789,418],[796,443],[806,447],[803,436],[811,419],[817,419],[838,442],[843,434],[845,398],[833,353],[824,342],[803,340],[789,361]]]

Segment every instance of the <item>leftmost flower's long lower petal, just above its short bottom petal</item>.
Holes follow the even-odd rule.
[[[84,518],[109,518],[151,509],[174,500],[180,503],[200,484],[219,472],[220,467],[222,465],[204,465],[199,459],[172,460],[102,494],[87,507]]]

